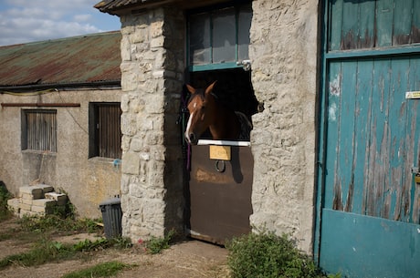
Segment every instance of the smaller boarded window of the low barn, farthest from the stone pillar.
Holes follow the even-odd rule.
[[[22,149],[57,151],[57,110],[23,110]]]

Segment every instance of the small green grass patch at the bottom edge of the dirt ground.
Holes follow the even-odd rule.
[[[124,269],[131,268],[133,265],[120,262],[107,262],[94,265],[92,267],[68,273],[61,278],[97,278],[115,276]]]

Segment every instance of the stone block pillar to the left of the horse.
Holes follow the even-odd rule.
[[[122,233],[133,241],[183,227],[181,132],[184,16],[121,15]]]

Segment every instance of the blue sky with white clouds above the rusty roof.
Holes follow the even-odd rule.
[[[0,0],[0,46],[120,30],[100,0]]]

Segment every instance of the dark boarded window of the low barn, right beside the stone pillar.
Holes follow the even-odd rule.
[[[89,158],[121,159],[120,118],[120,103],[90,103]]]

